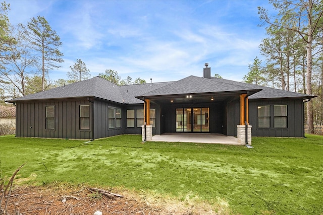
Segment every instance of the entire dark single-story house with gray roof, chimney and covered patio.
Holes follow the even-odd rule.
[[[206,65],[206,64],[205,64]],[[211,77],[117,86],[100,77],[12,99],[16,136],[97,139],[119,134],[205,132],[304,136],[304,102],[314,96]],[[145,126],[143,126],[145,124]]]

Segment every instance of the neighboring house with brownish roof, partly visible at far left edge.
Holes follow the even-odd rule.
[[[14,134],[16,128],[16,107],[0,105],[0,135]]]

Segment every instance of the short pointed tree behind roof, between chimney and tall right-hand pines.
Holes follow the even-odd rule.
[[[243,77],[243,81],[253,85],[265,85],[265,78],[263,77],[263,70],[261,60],[258,57],[254,58],[253,64],[248,65],[249,73]]]

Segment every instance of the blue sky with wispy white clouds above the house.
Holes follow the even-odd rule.
[[[257,7],[267,1],[6,1],[12,24],[43,16],[61,37],[65,62],[50,71],[67,79],[81,59],[91,76],[105,69],[150,82],[202,76],[242,81],[265,38]]]

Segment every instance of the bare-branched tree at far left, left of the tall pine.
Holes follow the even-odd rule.
[[[37,60],[30,41],[24,34],[24,26],[18,24],[11,28],[11,32],[15,43],[8,46],[6,64],[0,69],[0,86],[7,89],[8,96],[26,96],[25,79],[35,74],[34,67],[37,65]]]

